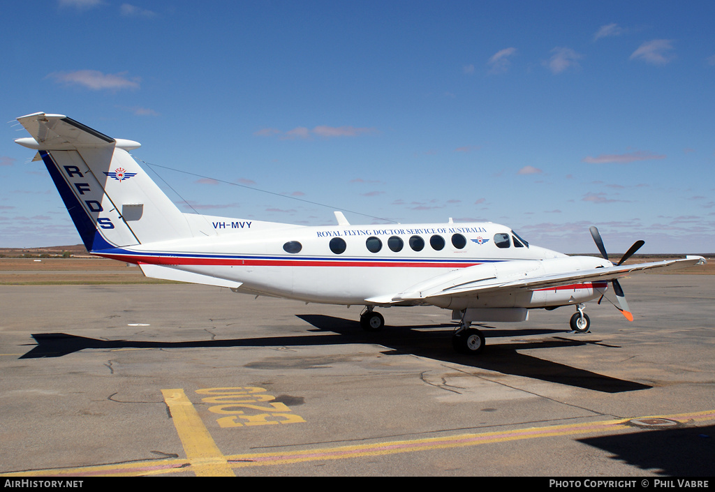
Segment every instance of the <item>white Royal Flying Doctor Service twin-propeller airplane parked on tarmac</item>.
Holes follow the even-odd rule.
[[[701,256],[625,265],[568,256],[531,245],[493,222],[302,226],[181,212],[129,154],[141,146],[115,139],[62,114],[17,120],[31,137],[84,246],[92,255],[139,265],[147,277],[229,287],[234,292],[305,302],[364,306],[360,325],[380,330],[375,308],[433,305],[452,310],[453,348],[478,354],[485,338],[473,323],[528,320],[529,310],[573,306],[569,322],[587,333],[586,302],[613,287],[633,320],[618,278],[704,265]]]

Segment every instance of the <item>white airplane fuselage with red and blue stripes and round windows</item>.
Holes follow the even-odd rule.
[[[236,227],[238,230],[227,229],[222,222],[213,224],[216,233],[210,237],[154,242],[99,254],[240,282],[237,290],[241,292],[340,305],[388,305],[385,296],[454,270],[475,270],[477,265],[482,265],[477,269],[489,269],[507,279],[530,271],[543,274],[545,268],[558,272],[603,263],[527,245],[508,227],[492,222],[321,227],[252,222],[251,227]],[[403,305],[536,308],[590,300],[605,287],[605,282],[586,282],[525,290],[519,295],[443,298]]]

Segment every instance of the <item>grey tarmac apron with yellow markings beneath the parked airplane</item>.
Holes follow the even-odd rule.
[[[477,357],[438,308],[0,286],[0,474],[714,476],[715,276],[621,285],[632,323],[533,310]]]

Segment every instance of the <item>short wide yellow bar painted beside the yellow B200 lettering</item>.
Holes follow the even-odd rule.
[[[162,390],[186,457],[197,476],[235,476],[182,389]]]

